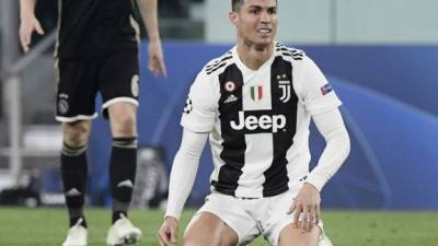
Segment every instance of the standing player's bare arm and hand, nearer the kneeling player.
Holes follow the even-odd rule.
[[[142,22],[149,37],[149,70],[154,74],[166,75],[160,32],[158,30],[157,0],[137,0]]]

